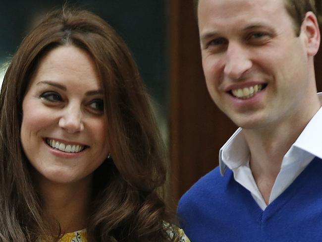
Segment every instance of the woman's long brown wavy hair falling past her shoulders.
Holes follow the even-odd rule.
[[[20,144],[22,101],[46,53],[62,45],[85,50],[104,91],[111,159],[94,173],[88,240],[169,241],[164,152],[149,98],[129,50],[100,17],[64,7],[49,14],[22,42],[4,76],[0,94],[0,241],[31,242],[59,236],[44,218],[31,166]],[[55,232],[53,232],[55,231]],[[63,231],[62,231],[63,232]]]

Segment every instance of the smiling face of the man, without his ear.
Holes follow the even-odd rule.
[[[308,36],[295,35],[283,0],[200,0],[198,19],[208,90],[233,122],[268,127],[310,109]]]

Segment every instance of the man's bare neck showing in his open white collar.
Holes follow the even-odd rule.
[[[243,135],[251,153],[252,174],[267,204],[284,155],[320,106],[320,103],[316,103],[310,111],[298,112],[297,115],[277,125],[259,129],[243,129]]]

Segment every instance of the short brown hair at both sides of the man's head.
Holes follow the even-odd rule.
[[[199,0],[193,0],[195,14],[198,18],[198,2]],[[285,8],[288,14],[291,16],[295,26],[295,33],[297,36],[300,35],[302,21],[304,20],[305,14],[312,11],[317,15],[317,9],[315,7],[315,0],[284,0]]]

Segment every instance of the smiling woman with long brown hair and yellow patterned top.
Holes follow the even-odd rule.
[[[137,67],[100,17],[48,15],[0,108],[0,241],[189,241],[157,192],[163,150]]]

